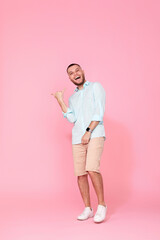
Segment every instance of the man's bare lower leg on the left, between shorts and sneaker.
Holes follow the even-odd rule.
[[[81,196],[83,198],[85,207],[91,207],[90,204],[90,195],[89,195],[89,184],[88,184],[88,174],[78,176],[77,182]]]

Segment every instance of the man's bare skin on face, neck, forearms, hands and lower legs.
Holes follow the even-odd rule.
[[[68,69],[67,73],[68,73],[68,77],[69,77],[70,81],[73,84],[75,84],[79,90],[82,90],[83,84],[86,82],[84,70],[81,67],[79,67],[78,65],[73,65]],[[77,77],[79,77],[79,79],[76,79]],[[64,99],[63,99],[64,91],[65,91],[65,88],[62,91],[57,91],[55,93],[51,93],[51,95],[53,95],[56,98],[62,111],[67,112],[68,107],[65,104]],[[91,130],[93,130],[98,125],[98,123],[99,123],[99,121],[91,121],[91,123],[88,127]],[[91,133],[86,131],[84,133],[84,135],[82,136],[81,143],[88,144],[90,141],[90,137],[91,137]],[[88,174],[77,177],[77,183],[78,183],[79,190],[80,190],[82,199],[84,201],[85,207],[91,208],[88,175],[90,176],[93,187],[95,189],[97,199],[98,199],[98,204],[106,206],[105,201],[104,201],[104,188],[103,188],[103,179],[102,179],[101,173],[97,173],[94,171],[88,171]]]

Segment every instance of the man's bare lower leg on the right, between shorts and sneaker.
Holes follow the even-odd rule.
[[[106,206],[104,201],[103,179],[101,173],[93,171],[89,171],[88,173],[98,198],[98,204]]]

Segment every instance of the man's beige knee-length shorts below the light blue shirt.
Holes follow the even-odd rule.
[[[87,144],[72,144],[75,176],[88,174],[87,171],[100,173],[104,141],[104,137],[95,137]]]

